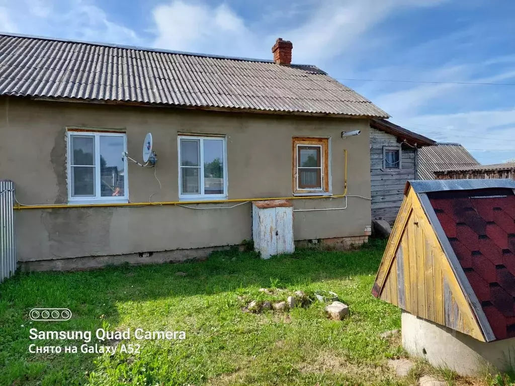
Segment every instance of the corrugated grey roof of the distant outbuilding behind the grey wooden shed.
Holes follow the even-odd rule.
[[[479,165],[460,144],[437,143],[419,149],[418,177],[421,180],[434,180],[434,171]]]

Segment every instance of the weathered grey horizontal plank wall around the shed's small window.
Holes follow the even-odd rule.
[[[401,149],[401,169],[383,169],[383,148]],[[416,149],[397,142],[397,137],[370,128],[370,180],[372,219],[393,223],[404,198],[407,180],[415,179]]]

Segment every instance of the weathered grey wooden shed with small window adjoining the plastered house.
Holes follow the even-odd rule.
[[[406,181],[418,179],[419,151],[434,144],[386,119],[370,121],[372,220],[395,220]]]

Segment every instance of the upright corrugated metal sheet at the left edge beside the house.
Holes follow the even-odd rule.
[[[0,283],[16,270],[14,183],[0,180]]]

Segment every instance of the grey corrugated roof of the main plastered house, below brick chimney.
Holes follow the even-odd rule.
[[[388,117],[315,66],[10,34],[0,95]]]

